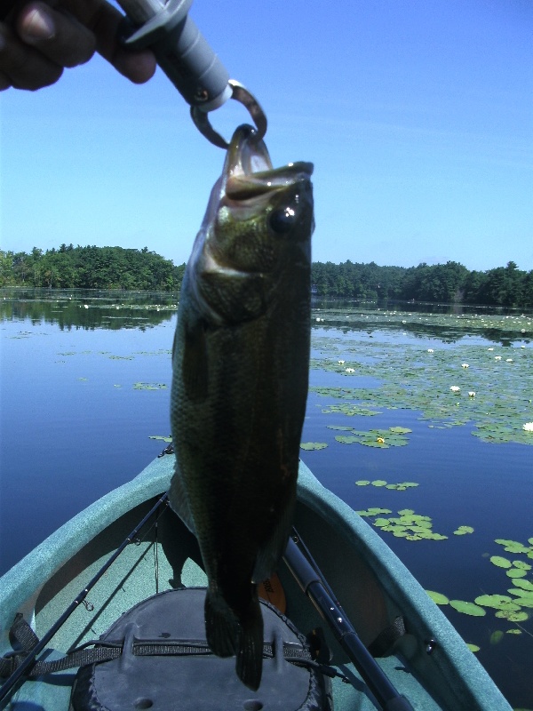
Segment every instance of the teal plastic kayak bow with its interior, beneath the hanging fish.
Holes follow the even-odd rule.
[[[0,708],[85,708],[84,701],[72,699],[82,694],[82,676],[94,675],[95,669],[103,674],[107,668],[107,683],[118,694],[121,675],[131,667],[131,659],[124,658],[125,640],[132,638],[139,646],[141,619],[148,609],[154,629],[163,628],[163,619],[169,629],[178,625],[174,618],[179,615],[173,612],[179,609],[178,598],[183,601],[188,595],[187,604],[203,611],[198,600],[203,599],[207,578],[195,537],[165,499],[173,467],[171,454],[155,459],[131,482],[61,526],[0,578],[0,658],[4,665],[0,665]],[[282,667],[296,666],[298,674],[310,674],[310,668],[317,678],[327,676],[324,703],[336,711],[510,711],[495,683],[410,571],[376,531],[325,489],[301,461],[293,533],[284,563],[272,582],[264,584],[263,595],[270,601],[265,603],[268,614],[274,610],[277,615],[274,627],[290,625],[291,641],[282,643],[281,657],[288,647],[294,662],[298,648],[309,660],[296,665],[277,662],[276,674]],[[181,614],[183,624],[197,610]],[[275,660],[275,639],[267,639],[265,624],[265,645],[272,643],[264,659]],[[113,641],[113,635],[119,635],[120,643]],[[187,639],[190,635],[190,631],[185,633]],[[259,690],[252,692],[235,681],[234,661],[212,658],[221,665],[230,662],[222,670],[227,674],[227,689],[244,690],[243,701],[225,701],[226,682],[213,681],[211,672],[202,671],[211,667],[199,666],[207,664],[209,649],[200,643],[189,654],[190,650],[183,651],[183,642],[174,640],[172,647],[155,639],[173,639],[174,632],[147,636],[145,646],[152,645],[152,651],[146,653],[152,655],[149,664],[153,665],[147,681],[140,671],[132,671],[126,683],[131,690],[137,685],[142,691],[134,691],[130,705],[117,701],[115,707],[99,706],[93,701],[92,706],[87,702],[87,708],[181,709],[189,707],[188,696],[198,711],[275,707],[274,702],[265,701],[270,671],[264,672]],[[308,653],[303,648],[307,642],[301,642],[300,649],[298,640],[303,639],[318,639],[322,650]],[[321,655],[320,664],[311,659]],[[180,691],[176,699],[171,691],[175,703],[169,705],[157,694],[163,695],[165,686],[178,683],[179,669],[188,669],[187,693]],[[272,678],[275,684],[274,672]],[[210,679],[211,687],[216,686],[215,700],[207,699]],[[85,687],[91,684],[92,677]],[[150,684],[158,691],[147,689]],[[387,700],[389,689],[398,696]],[[289,711],[290,705],[283,704]],[[299,701],[292,707],[307,708]]]

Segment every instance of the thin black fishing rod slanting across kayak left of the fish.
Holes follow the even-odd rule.
[[[39,640],[38,643],[36,643],[36,646],[28,652],[28,655],[24,658],[22,662],[20,662],[20,665],[14,670],[11,676],[7,679],[7,681],[3,684],[3,686],[0,688],[0,701],[3,701],[5,697],[9,694],[10,691],[12,691],[12,688],[15,686],[17,682],[20,681],[20,678],[24,675],[24,673],[28,670],[28,667],[30,667],[33,662],[36,659],[36,656],[41,653],[41,651],[44,650],[46,645],[50,642],[52,637],[58,632],[60,627],[62,627],[65,622],[68,620],[70,615],[76,610],[78,605],[80,603],[84,603],[85,598],[87,597],[87,594],[91,590],[92,587],[96,585],[96,583],[99,581],[99,579],[102,577],[102,575],[109,569],[109,567],[115,563],[115,560],[118,558],[118,556],[123,552],[123,549],[133,541],[137,539],[137,534],[139,531],[142,529],[142,527],[147,523],[147,521],[150,519],[152,515],[155,514],[157,509],[161,507],[164,503],[166,503],[168,499],[168,495],[166,493],[163,494],[163,496],[160,499],[157,499],[157,503],[155,504],[154,507],[152,507],[147,515],[140,521],[133,531],[131,531],[130,535],[123,540],[123,542],[120,544],[120,546],[115,550],[115,553],[111,555],[109,560],[107,560],[106,563],[103,564],[103,566],[99,569],[99,571],[96,573],[96,575],[91,579],[91,581],[84,587],[84,589],[80,592],[79,595],[76,596],[76,598],[68,605],[68,608],[66,611],[63,612],[61,615],[60,619],[58,619],[52,627],[48,630],[48,632]]]

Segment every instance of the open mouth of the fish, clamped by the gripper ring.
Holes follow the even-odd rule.
[[[250,200],[311,178],[313,164],[299,161],[275,168],[263,140],[248,124],[237,128],[224,165],[225,193],[230,200]]]

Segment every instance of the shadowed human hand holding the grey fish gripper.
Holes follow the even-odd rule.
[[[149,50],[131,52],[116,38],[123,16],[106,0],[20,0],[0,22],[0,91],[35,91],[99,52],[135,84],[155,73]]]

